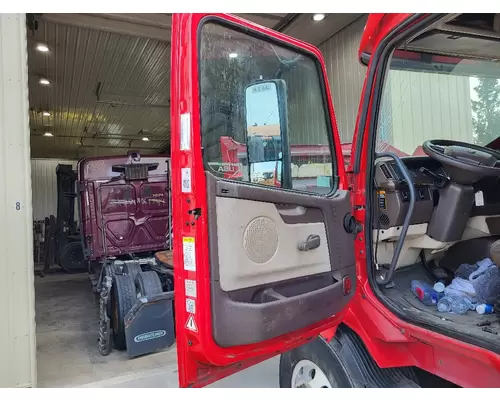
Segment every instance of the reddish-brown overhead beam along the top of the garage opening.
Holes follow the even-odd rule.
[[[132,17],[126,18],[125,14],[42,14],[44,21],[55,24],[72,25],[80,28],[93,29],[104,32],[111,32],[120,35],[143,37],[147,39],[170,42],[171,28],[165,15],[165,23],[159,26],[159,22],[147,21]],[[133,21],[133,22],[131,22]]]

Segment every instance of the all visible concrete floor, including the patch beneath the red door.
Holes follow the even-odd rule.
[[[35,279],[39,387],[177,387],[175,346],[137,359],[97,350],[98,303],[87,274]],[[212,387],[278,387],[273,358]]]

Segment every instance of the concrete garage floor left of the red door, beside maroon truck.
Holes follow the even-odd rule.
[[[98,302],[87,274],[35,280],[39,387],[74,387],[176,365],[175,347],[129,359],[97,350]]]

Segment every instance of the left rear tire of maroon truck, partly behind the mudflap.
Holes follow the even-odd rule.
[[[113,341],[115,349],[125,350],[125,315],[136,301],[135,285],[130,275],[115,275],[111,287]]]

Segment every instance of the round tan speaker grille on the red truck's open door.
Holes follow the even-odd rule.
[[[250,221],[243,234],[243,248],[248,258],[257,264],[271,260],[278,251],[278,243],[278,229],[273,220],[267,217]]]

